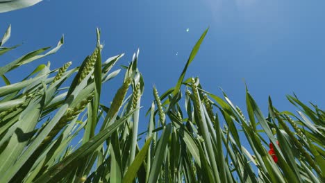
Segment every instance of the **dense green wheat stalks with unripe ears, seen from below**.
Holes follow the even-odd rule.
[[[264,115],[248,89],[247,109],[240,110],[226,94],[204,90],[199,78],[185,79],[207,32],[175,87],[161,95],[153,88],[151,106],[141,107],[138,54],[110,106],[100,103],[101,85],[120,73],[112,68],[123,55],[101,61],[99,30],[80,67],[40,64],[20,82],[6,78],[56,53],[63,38],[50,51],[31,51],[0,67],[6,83],[0,87],[0,182],[324,182],[324,110],[288,96],[298,112],[280,112],[270,97]],[[17,47],[3,47],[9,37],[10,26],[0,55]],[[139,113],[147,107],[141,147]]]

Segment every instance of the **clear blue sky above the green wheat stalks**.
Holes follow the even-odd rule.
[[[93,51],[99,27],[105,44],[103,60],[126,53],[115,69],[131,61],[140,48],[139,69],[145,82],[142,106],[147,111],[152,86],[160,94],[174,87],[192,46],[210,26],[185,78],[199,76],[206,90],[219,95],[222,87],[243,109],[244,79],[265,114],[269,95],[279,110],[292,110],[285,98],[292,92],[324,109],[324,8],[322,0],[44,0],[0,14],[1,33],[12,24],[6,46],[24,42],[0,58],[1,66],[28,51],[56,45],[62,34],[65,45],[58,53],[8,78],[22,79],[25,71],[48,60],[52,69],[68,61],[76,66]],[[122,76],[103,87],[104,101],[115,94]],[[141,119],[140,132],[149,120],[143,115]]]

